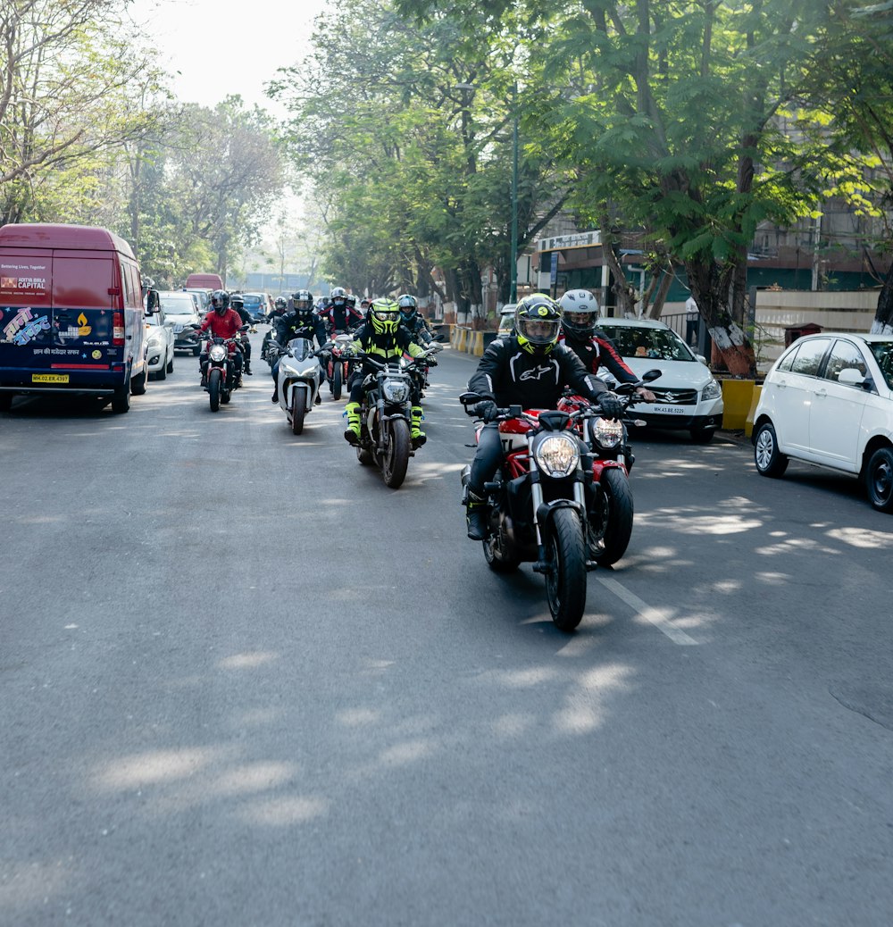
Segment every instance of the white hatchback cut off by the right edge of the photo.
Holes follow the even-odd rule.
[[[797,338],[766,375],[752,440],[762,476],[782,476],[791,458],[828,467],[893,512],[893,336]]]

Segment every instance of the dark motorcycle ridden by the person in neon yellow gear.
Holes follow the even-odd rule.
[[[410,457],[415,448],[410,438],[412,430],[414,368],[425,356],[415,361],[382,362],[357,351],[353,360],[363,360],[374,368],[364,376],[363,398],[360,401],[360,443],[356,445],[357,460],[367,466],[376,464],[385,486],[399,489]],[[355,376],[361,376],[358,371]]]

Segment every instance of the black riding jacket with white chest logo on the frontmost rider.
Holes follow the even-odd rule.
[[[566,386],[595,401],[607,391],[563,344],[556,344],[548,354],[535,355],[521,348],[515,336],[492,341],[468,380],[470,390],[501,408],[555,409]]]

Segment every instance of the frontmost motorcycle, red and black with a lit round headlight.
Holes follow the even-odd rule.
[[[463,393],[466,412],[483,400]],[[487,493],[488,537],[484,559],[496,573],[509,573],[532,563],[545,578],[546,598],[555,627],[572,631],[586,607],[586,574],[595,568],[589,556],[586,484],[591,483],[593,456],[576,423],[593,417],[591,408],[564,412],[519,405],[497,410],[495,421],[504,460]],[[478,425],[478,435],[483,423]],[[470,464],[462,470],[463,503],[467,503]],[[590,493],[592,496],[592,493]]]

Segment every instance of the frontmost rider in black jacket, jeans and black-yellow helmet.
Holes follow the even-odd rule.
[[[492,341],[468,380],[468,389],[484,397],[469,412],[485,423],[468,481],[466,523],[472,540],[487,536],[484,486],[503,457],[497,409],[510,405],[555,409],[569,384],[580,396],[597,403],[606,416],[617,418],[623,413],[617,395],[588,373],[571,349],[558,343],[561,314],[561,307],[544,293],[523,298],[515,310],[515,334]]]

